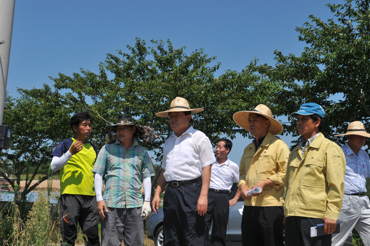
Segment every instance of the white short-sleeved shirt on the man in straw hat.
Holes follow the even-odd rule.
[[[176,133],[163,145],[162,168],[166,181],[186,181],[202,176],[203,167],[215,163],[211,141],[192,126],[177,137]]]

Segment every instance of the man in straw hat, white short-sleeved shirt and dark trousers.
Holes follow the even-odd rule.
[[[203,109],[191,109],[186,99],[176,97],[168,111],[156,114],[169,117],[174,131],[163,146],[162,172],[152,201],[152,208],[157,213],[159,195],[167,184],[163,197],[166,246],[204,243],[203,215],[207,212],[211,164],[216,159],[208,137],[190,125],[191,114],[201,111]]]

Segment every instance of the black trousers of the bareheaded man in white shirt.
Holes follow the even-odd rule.
[[[208,245],[209,228],[212,220],[211,246],[226,245],[226,231],[229,221],[229,195],[208,191],[208,208],[206,216],[206,230],[204,245]]]

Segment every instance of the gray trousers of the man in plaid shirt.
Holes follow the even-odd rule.
[[[144,246],[144,222],[141,207],[120,209],[107,207],[101,220],[101,246]]]

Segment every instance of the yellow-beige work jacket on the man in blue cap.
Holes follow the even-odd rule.
[[[342,207],[346,158],[343,150],[320,133],[302,155],[289,155],[285,177],[285,216],[337,220]]]

